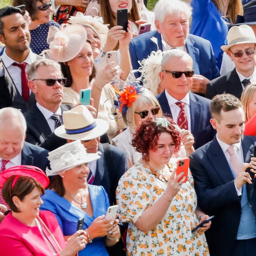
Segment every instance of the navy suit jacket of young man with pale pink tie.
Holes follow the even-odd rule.
[[[244,136],[244,162],[250,162],[256,137]],[[216,137],[190,156],[190,170],[194,177],[198,206],[207,214],[215,215],[206,232],[211,256],[232,256],[241,217],[241,196],[237,196],[234,177]],[[248,202],[256,216],[256,179],[246,183]]]

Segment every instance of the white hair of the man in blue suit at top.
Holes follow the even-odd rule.
[[[190,20],[192,7],[182,0],[159,0],[154,7],[155,19],[163,23],[167,15],[185,14]]]

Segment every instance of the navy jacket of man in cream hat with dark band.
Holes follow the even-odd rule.
[[[102,153],[101,158],[97,160],[96,172],[94,176],[94,185],[102,185],[105,191],[109,195],[110,205],[116,204],[116,189],[120,177],[127,171],[127,157],[125,151],[117,148],[116,146],[109,145],[111,170],[108,170],[105,160],[104,149],[101,143],[99,143],[98,151]],[[111,177],[114,178],[110,182],[109,172],[112,173]],[[111,183],[112,188],[111,188]]]

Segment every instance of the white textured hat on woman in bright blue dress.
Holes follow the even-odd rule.
[[[46,168],[46,175],[52,176],[64,173],[83,163],[100,158],[98,153],[87,153],[80,140],[75,140],[48,153],[51,169]]]

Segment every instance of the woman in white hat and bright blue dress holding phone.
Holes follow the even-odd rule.
[[[41,209],[53,212],[65,240],[75,233],[79,218],[84,218],[89,243],[79,256],[108,256],[105,246],[113,246],[120,239],[118,220],[105,218],[109,207],[105,189],[87,184],[88,162],[98,158],[97,153],[88,154],[80,140],[49,152],[51,169],[46,169],[46,174],[54,177],[42,196]]]

